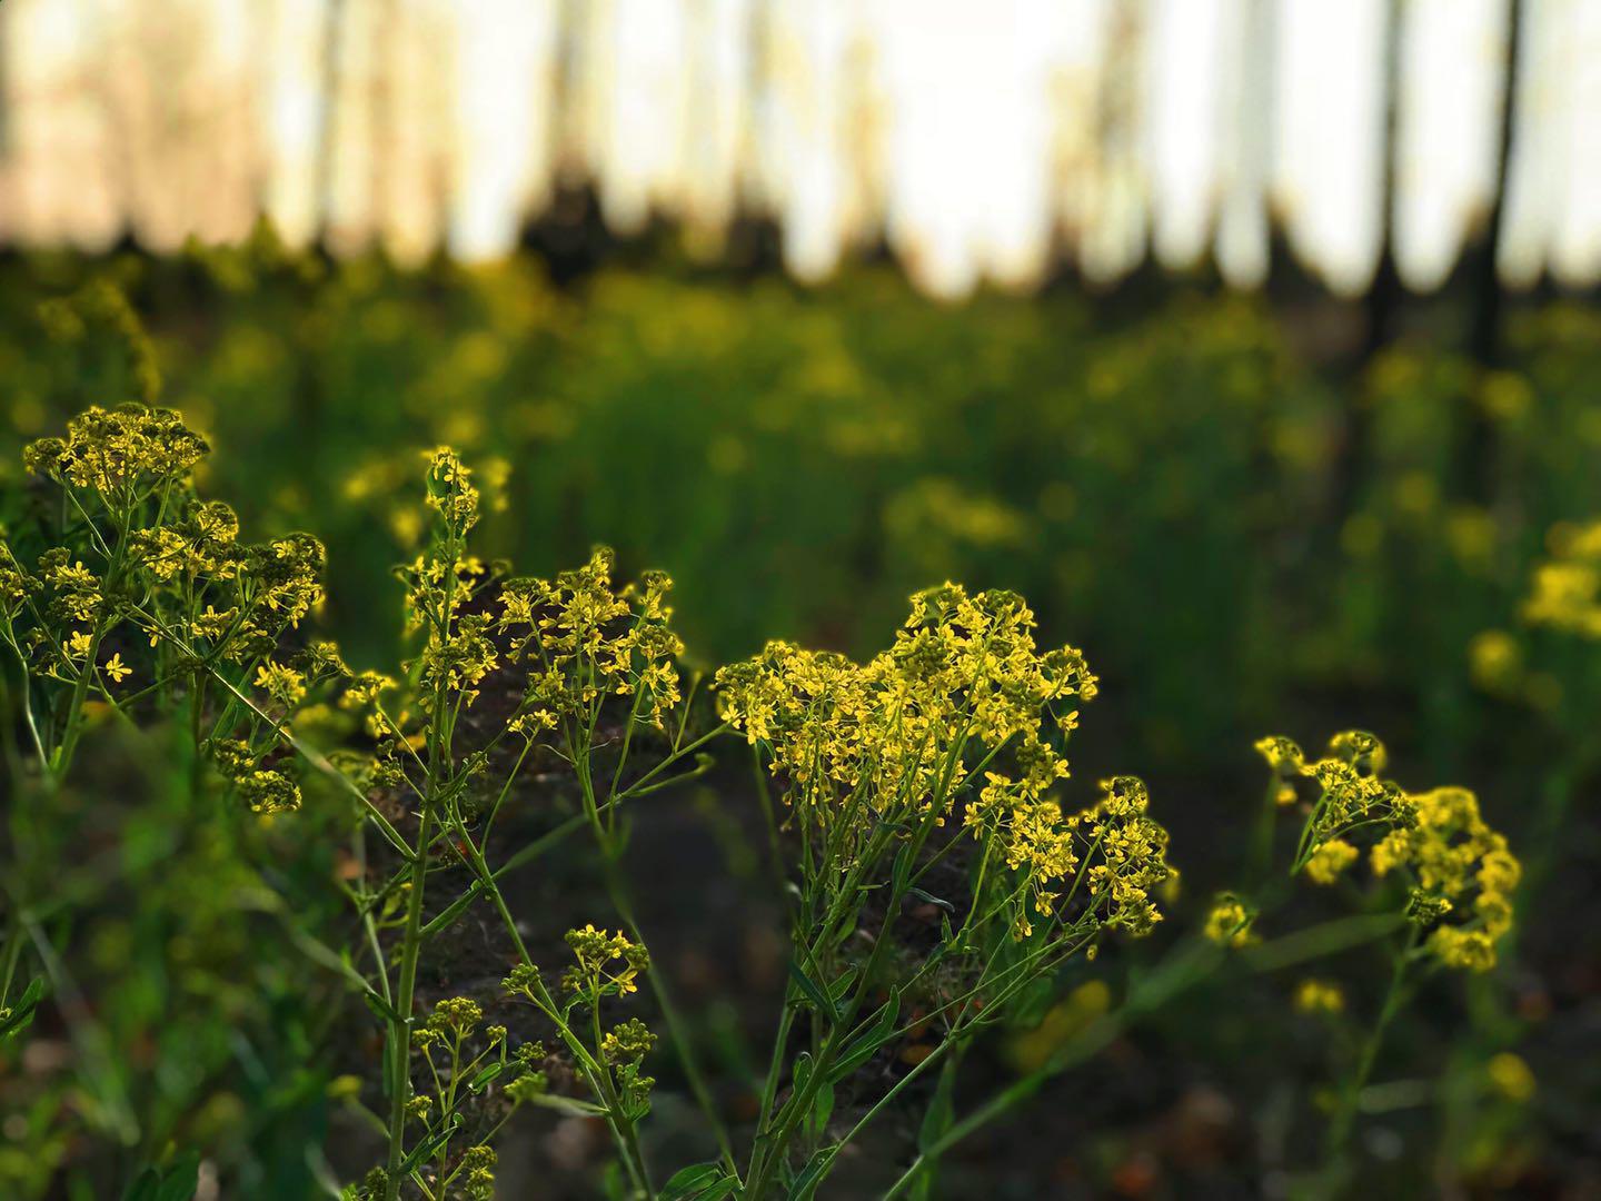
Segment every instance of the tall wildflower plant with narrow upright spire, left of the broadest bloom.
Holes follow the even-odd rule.
[[[679,703],[676,655],[680,645],[668,629],[663,605],[669,583],[664,576],[652,576],[637,589],[613,591],[608,552],[597,552],[584,568],[554,583],[508,580],[504,565],[485,565],[469,552],[467,535],[479,519],[479,492],[471,476],[450,450],[440,448],[429,456],[424,484],[434,532],[423,552],[397,570],[416,653],[399,679],[376,673],[349,676],[341,698],[363,714],[373,738],[371,783],[405,797],[416,815],[410,841],[381,817],[375,818],[400,849],[403,862],[387,882],[363,886],[352,895],[371,930],[368,945],[378,972],[376,988],[363,983],[370,1002],[386,1017],[389,1034],[389,1155],[375,1195],[395,1198],[410,1180],[423,1196],[445,1196],[450,1182],[458,1179],[459,1161],[450,1158],[455,1151],[448,1126],[456,1116],[453,1105],[461,1100],[456,1092],[447,1092],[439,1108],[424,1115],[419,1135],[408,1135],[418,1097],[411,1084],[416,1050],[427,1058],[432,1046],[426,1031],[413,1031],[411,1014],[424,945],[482,902],[493,908],[516,956],[506,993],[532,1006],[554,1030],[576,1078],[592,1095],[588,1102],[564,1099],[559,1105],[600,1116],[615,1137],[628,1177],[637,1190],[648,1191],[636,1131],[648,1108],[650,1081],[639,1071],[644,1039],[629,1028],[624,1054],[618,1049],[616,1031],[607,1034],[599,1028],[600,996],[637,988],[634,980],[647,961],[644,946],[623,935],[607,940],[592,926],[575,932],[568,942],[578,969],[568,974],[567,985],[581,986],[556,993],[528,954],[500,878],[583,825],[610,841],[621,829],[618,810],[624,801],[684,778],[684,772],[669,770],[693,753],[695,745],[684,740],[682,721],[671,745],[648,769],[637,777],[629,772],[637,727],[666,732],[668,716]],[[487,721],[467,721],[475,706],[488,703],[484,690],[492,682],[500,709]],[[623,748],[615,764],[608,761],[610,786],[597,789],[597,729],[616,698],[626,698],[629,706]],[[492,866],[496,818],[524,780],[536,748],[572,767],[581,785],[584,812],[508,863]],[[427,916],[431,873],[456,866],[467,868],[471,886]],[[405,913],[399,919],[397,946],[386,961],[376,927],[397,895],[405,897]],[[613,959],[621,967],[612,964]],[[580,1007],[588,1010],[589,1026],[575,1017]],[[480,1083],[488,1086],[492,1079]],[[525,1071],[506,1089],[512,1102],[543,1103],[541,1081]],[[482,1158],[482,1147],[472,1142],[461,1155]],[[429,1159],[437,1159],[431,1174],[424,1171]],[[488,1171],[488,1164],[479,1164],[466,1179],[469,1183],[484,1180]]]

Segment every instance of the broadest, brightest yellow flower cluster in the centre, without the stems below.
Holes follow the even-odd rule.
[[[1095,809],[1071,817],[1047,796],[1068,775],[1050,740],[1077,725],[1071,701],[1097,692],[1082,653],[1039,653],[1034,615],[1015,592],[969,596],[948,583],[911,604],[893,645],[865,665],[768,642],[717,673],[724,717],[770,753],[796,818],[831,831],[831,854],[853,862],[885,823],[930,810],[943,821],[969,781],[967,756],[978,754],[985,783],[964,823],[994,839],[1033,911],[1052,913],[1093,850],[1085,879],[1108,924],[1148,930],[1167,834],[1146,815],[1145,786],[1111,780]],[[1013,926],[1020,937],[1033,930],[1026,906]]]

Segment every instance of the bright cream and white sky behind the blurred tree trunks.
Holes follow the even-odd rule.
[[[560,24],[562,11],[575,26]],[[514,247],[560,181],[714,251],[772,213],[826,277],[887,237],[941,296],[1068,258],[1262,280],[1268,223],[1372,277],[1388,0],[10,0],[0,239]],[[1401,6],[1394,232],[1414,288],[1483,232],[1508,0]],[[1601,0],[1526,0],[1503,274],[1601,280]],[[330,62],[330,45],[336,50]],[[330,83],[333,85],[330,90]]]

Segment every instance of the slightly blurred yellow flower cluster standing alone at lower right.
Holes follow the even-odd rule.
[[[1414,882],[1407,914],[1431,927],[1428,950],[1447,967],[1495,964],[1495,945],[1511,929],[1521,868],[1507,839],[1479,815],[1473,793],[1404,793],[1380,778],[1383,743],[1361,730],[1335,735],[1316,762],[1287,738],[1265,738],[1257,749],[1276,778],[1318,783],[1297,870],[1314,884],[1332,884],[1361,858],[1353,839],[1374,839],[1372,873],[1404,873]]]

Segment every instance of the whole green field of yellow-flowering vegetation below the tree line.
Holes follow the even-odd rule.
[[[1593,311],[0,271],[8,1193],[1601,1171]]]

